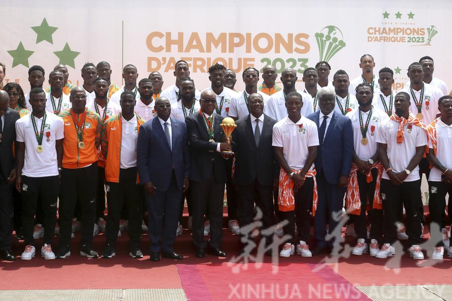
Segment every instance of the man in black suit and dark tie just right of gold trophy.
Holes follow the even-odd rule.
[[[248,97],[248,109],[250,114],[236,122],[237,128],[233,132],[236,158],[233,180],[240,197],[240,225],[243,227],[252,222],[256,204],[262,211],[263,230],[275,222],[273,189],[278,185],[278,165],[272,134],[276,120],[264,114],[264,99],[258,93]],[[251,233],[246,235],[250,239]],[[265,239],[266,245],[271,244],[272,236]]]

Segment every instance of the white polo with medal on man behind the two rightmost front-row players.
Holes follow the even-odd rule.
[[[422,89],[420,89],[419,91],[413,90],[414,95],[416,96],[418,101],[420,101],[421,91],[422,91]],[[408,86],[404,87],[401,90],[401,92],[406,92],[406,93],[408,93],[408,95],[410,95],[410,102],[411,102],[410,111],[411,111],[411,113],[416,115],[418,113],[417,107],[416,107],[416,103],[414,102],[413,96],[411,95],[410,86],[408,85]],[[432,85],[424,83],[424,97],[422,100],[421,113],[423,115],[422,122],[424,123],[425,126],[427,126],[433,120],[435,120],[436,115],[439,114],[438,99],[441,96],[443,96],[441,90],[433,87]],[[426,101],[429,101],[428,109],[427,109]]]

